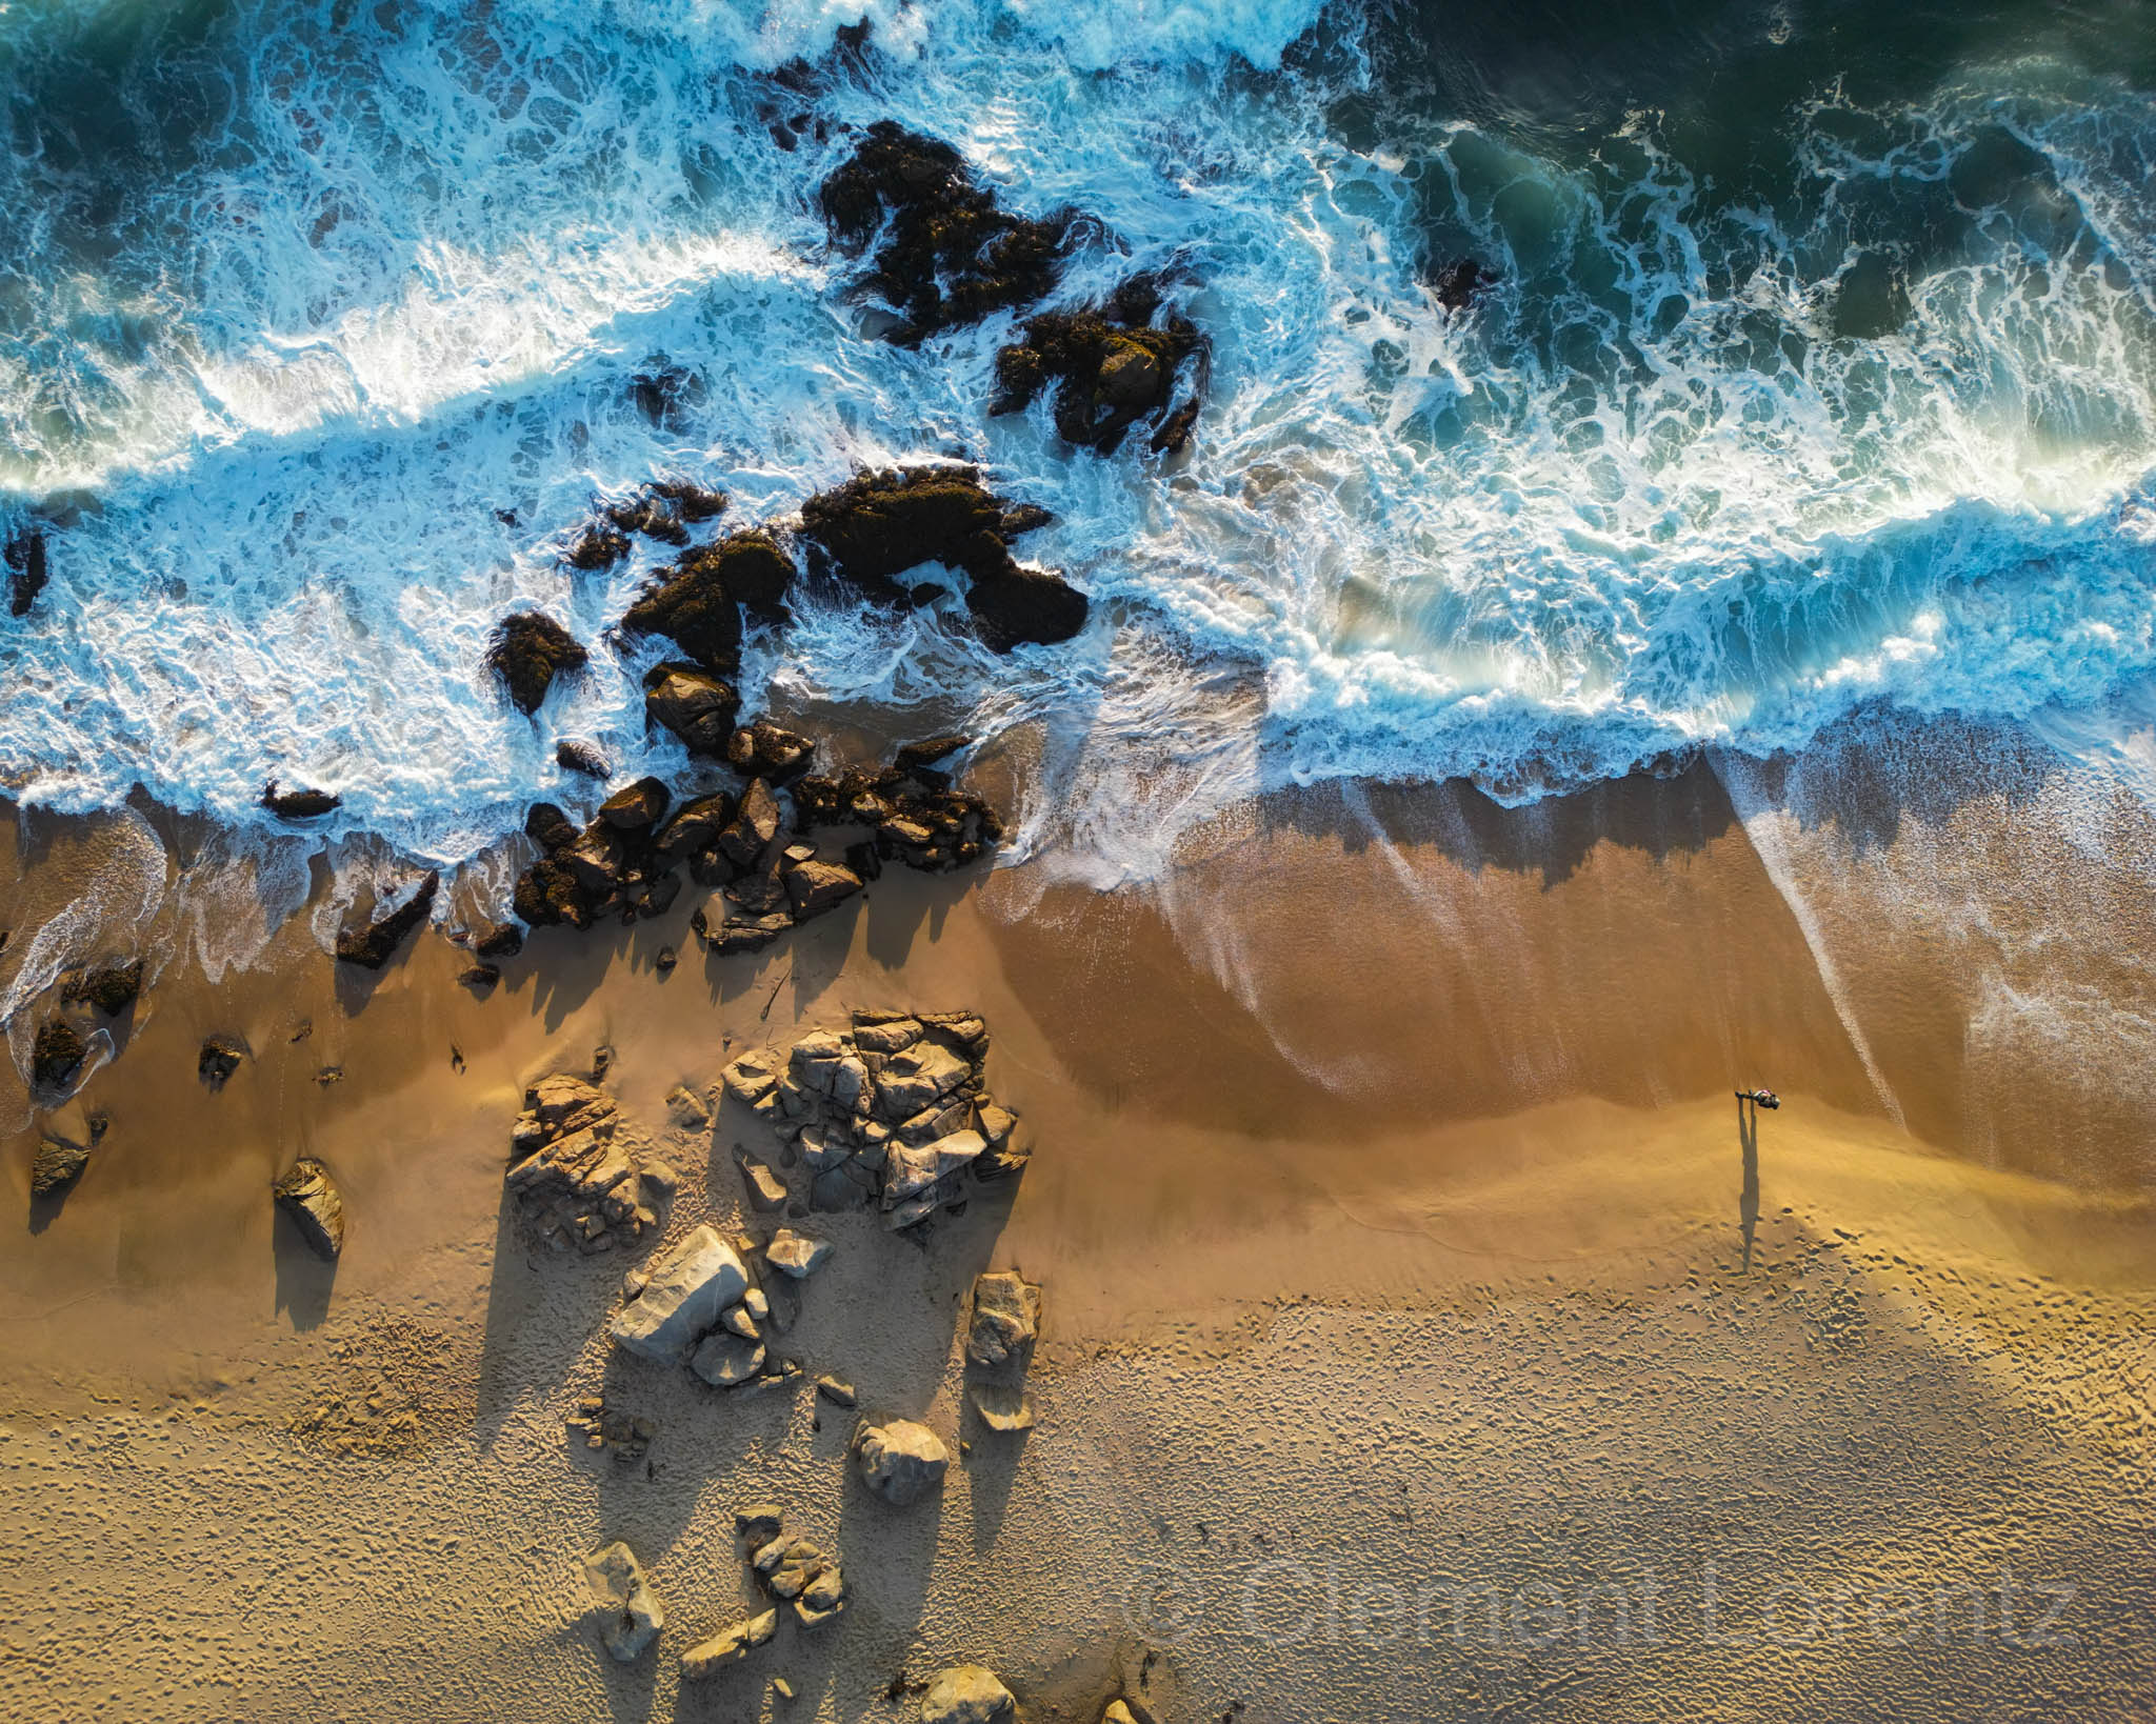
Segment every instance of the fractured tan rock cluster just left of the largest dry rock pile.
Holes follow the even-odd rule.
[[[509,1190],[552,1250],[612,1250],[655,1228],[675,1190],[673,1170],[640,1149],[604,1088],[554,1073],[524,1093],[509,1134]]]

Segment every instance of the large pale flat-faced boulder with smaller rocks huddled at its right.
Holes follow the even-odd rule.
[[[778,1278],[757,1276],[757,1256]],[[813,1274],[828,1256],[828,1243],[785,1231],[759,1252],[755,1241],[692,1228],[651,1267],[623,1278],[623,1306],[608,1334],[638,1358],[686,1364],[733,1394],[796,1384],[800,1362],[772,1351],[772,1334],[791,1327],[800,1310],[783,1282]]]

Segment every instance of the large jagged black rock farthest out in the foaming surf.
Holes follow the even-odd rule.
[[[888,332],[901,347],[1050,293],[1074,220],[1007,213],[951,144],[893,121],[869,127],[817,198],[843,252],[882,235],[862,287],[901,315]]]

